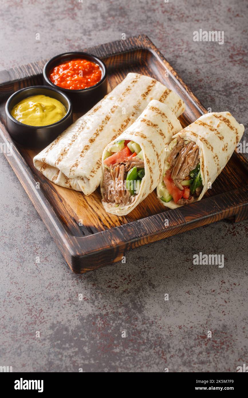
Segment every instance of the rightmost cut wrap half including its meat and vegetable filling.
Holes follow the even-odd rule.
[[[213,112],[174,135],[157,187],[161,203],[175,209],[200,200],[227,164],[243,133],[244,126],[230,112]]]

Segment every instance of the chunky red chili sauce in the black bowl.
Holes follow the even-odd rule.
[[[100,82],[102,70],[98,64],[87,59],[72,59],[52,69],[49,79],[56,86],[80,90]]]

